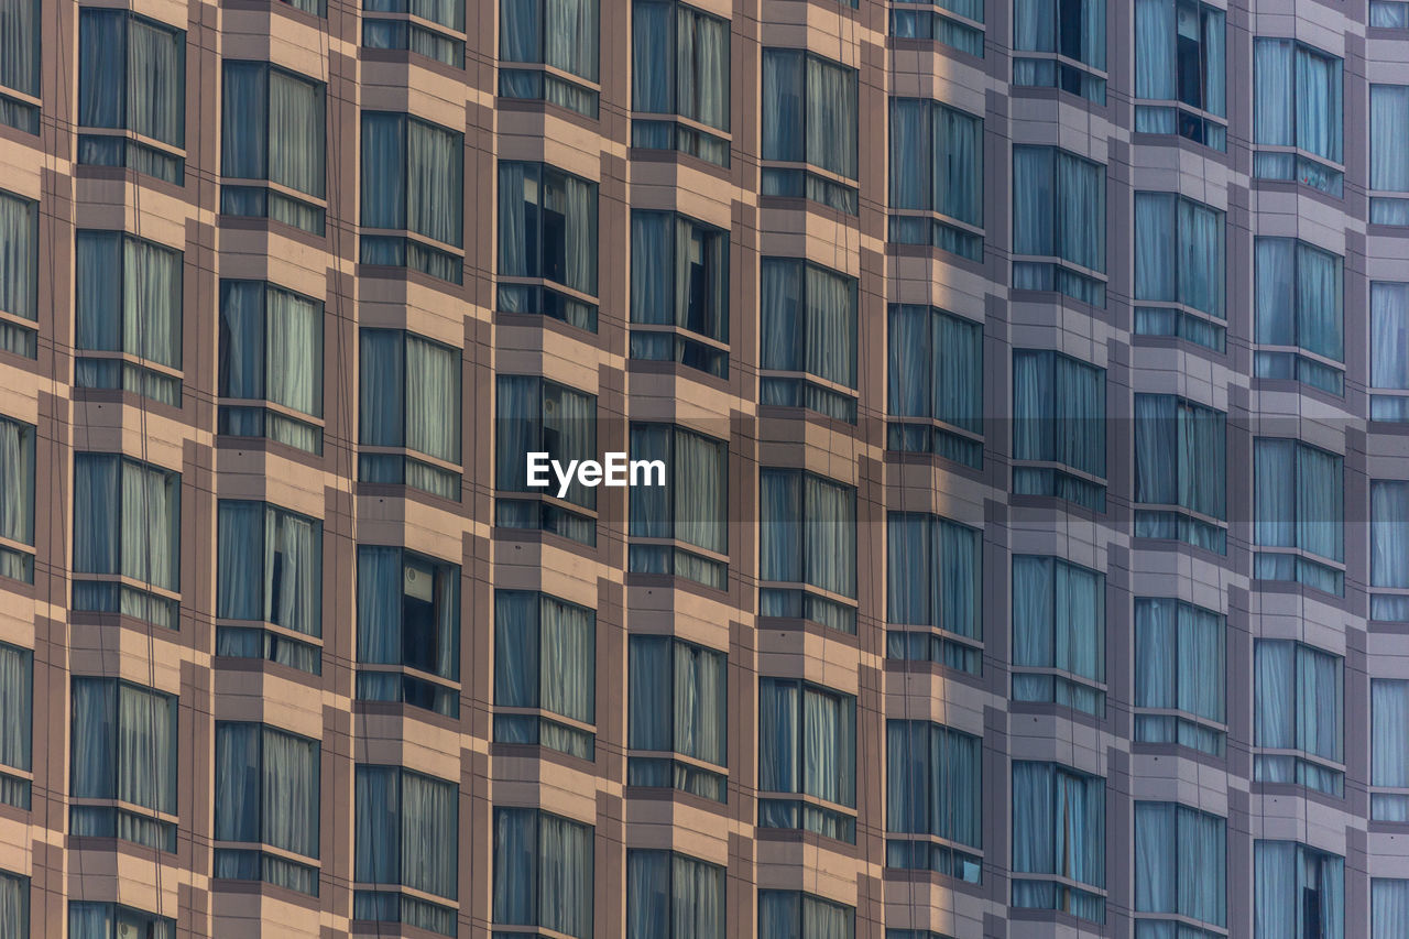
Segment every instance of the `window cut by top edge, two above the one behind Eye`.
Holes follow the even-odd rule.
[[[597,116],[597,0],[500,0],[499,94]],[[509,68],[507,63],[516,68]],[[568,80],[545,68],[572,75]]]

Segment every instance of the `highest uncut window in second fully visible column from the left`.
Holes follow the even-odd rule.
[[[323,234],[323,96],[321,82],[268,62],[225,62],[220,173],[272,185],[223,183],[223,214]]]

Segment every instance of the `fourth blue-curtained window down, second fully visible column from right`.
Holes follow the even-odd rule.
[[[1136,598],[1134,739],[1223,756],[1223,616],[1172,598]]]

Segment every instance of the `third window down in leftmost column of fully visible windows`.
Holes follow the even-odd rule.
[[[178,627],[180,474],[73,455],[73,609]]]

